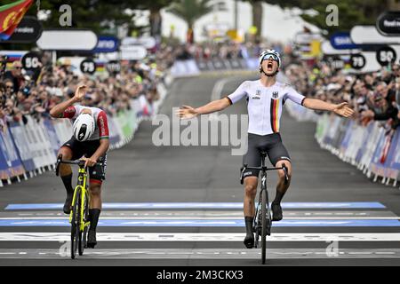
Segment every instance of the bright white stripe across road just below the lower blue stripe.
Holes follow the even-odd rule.
[[[97,233],[98,241],[240,241],[244,233]],[[0,233],[0,241],[69,241],[70,233]],[[273,233],[268,241],[400,241],[400,233]]]

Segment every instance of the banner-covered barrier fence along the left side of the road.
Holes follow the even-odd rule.
[[[167,80],[171,83],[171,80]],[[132,99],[129,110],[116,115],[108,115],[110,149],[116,149],[129,143],[143,117],[158,112],[159,106],[167,94],[166,86],[157,86],[158,99],[150,104],[144,95]],[[27,116],[27,122],[4,123],[0,130],[0,186],[12,184],[13,180],[28,179],[42,174],[45,170],[53,170],[57,161],[57,153],[69,138],[72,124],[68,119],[39,120]]]

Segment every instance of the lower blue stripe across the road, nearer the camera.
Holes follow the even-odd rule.
[[[0,220],[0,227],[6,226],[69,226],[68,218],[60,219],[35,219],[35,220],[23,220],[23,219],[2,219]],[[202,219],[190,219],[190,220],[176,220],[176,219],[106,219],[99,221],[99,226],[103,227],[242,227],[244,221],[242,219],[234,220],[202,220]],[[393,219],[382,219],[382,220],[368,220],[368,219],[350,219],[350,220],[282,220],[280,222],[274,222],[275,227],[400,227],[400,221]]]

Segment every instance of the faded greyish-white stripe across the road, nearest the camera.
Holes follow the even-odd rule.
[[[270,248],[267,258],[297,259],[341,259],[341,258],[400,258],[400,248],[339,248],[338,256],[327,256],[324,248]],[[18,249],[0,249],[0,258],[9,259],[60,259],[58,249],[35,248],[25,249],[20,256]],[[260,249],[237,248],[113,248],[84,251],[83,259],[260,259]]]

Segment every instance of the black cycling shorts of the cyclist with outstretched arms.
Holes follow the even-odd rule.
[[[275,167],[281,160],[291,161],[279,133],[257,135],[249,133],[247,153],[243,156],[243,163],[249,167],[261,166],[261,152],[268,154],[269,161]],[[260,170],[245,170],[244,177],[259,177]]]

